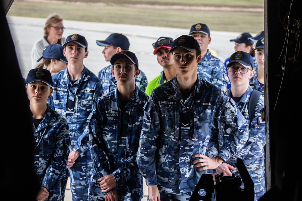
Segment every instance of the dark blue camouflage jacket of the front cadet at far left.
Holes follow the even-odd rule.
[[[46,200],[62,200],[61,178],[66,173],[69,155],[67,121],[47,105],[46,115],[35,128],[33,124],[34,171],[40,185],[49,192]]]

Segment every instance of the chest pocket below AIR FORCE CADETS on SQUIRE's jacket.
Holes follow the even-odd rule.
[[[162,111],[162,125],[160,133],[165,140],[178,142],[179,139],[179,106],[160,105]]]

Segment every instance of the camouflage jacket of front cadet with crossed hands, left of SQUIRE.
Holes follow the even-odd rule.
[[[143,125],[143,107],[148,99],[149,96],[136,86],[133,97],[121,110],[116,88],[98,99],[87,120],[95,169],[93,179],[112,174],[118,194],[132,193],[133,200],[143,197],[143,177],[138,170],[136,156]]]

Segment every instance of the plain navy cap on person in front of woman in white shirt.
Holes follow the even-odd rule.
[[[44,48],[42,56],[37,60],[39,62],[42,58],[46,59],[59,59],[68,63],[63,53],[64,47],[60,44],[51,44]]]

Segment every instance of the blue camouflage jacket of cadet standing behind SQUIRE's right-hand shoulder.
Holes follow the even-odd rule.
[[[207,50],[206,55],[197,64],[197,73],[202,79],[220,87],[223,91],[226,90],[227,84],[230,84],[223,62],[211,55],[210,50]]]

